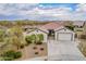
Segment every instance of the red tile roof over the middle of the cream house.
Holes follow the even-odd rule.
[[[48,23],[48,24],[41,26],[41,28],[45,28],[45,29],[57,29],[57,28],[59,28],[61,26],[62,26],[61,23],[56,23],[54,22],[54,23]]]

